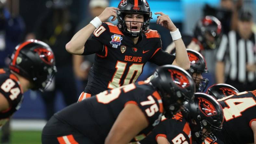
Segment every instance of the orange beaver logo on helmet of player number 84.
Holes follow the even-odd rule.
[[[51,65],[54,61],[54,55],[51,51],[45,48],[36,48],[34,49],[35,52],[39,55],[39,57],[48,65]]]

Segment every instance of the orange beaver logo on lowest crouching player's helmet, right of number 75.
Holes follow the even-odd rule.
[[[207,101],[204,98],[198,98],[198,99],[199,99],[199,102],[198,102],[199,109],[204,115],[212,116],[212,115],[217,114],[217,112],[211,102]]]

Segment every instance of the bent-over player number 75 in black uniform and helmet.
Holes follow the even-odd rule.
[[[127,144],[193,101],[195,84],[182,68],[160,66],[149,83],[139,81],[72,104],[56,113],[42,132],[43,144]]]

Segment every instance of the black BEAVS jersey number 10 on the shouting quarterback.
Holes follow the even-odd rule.
[[[84,46],[83,55],[96,53],[84,92],[95,95],[134,83],[147,61],[159,66],[172,64],[175,56],[161,48],[162,42],[156,30],[148,30],[134,44],[131,37],[122,34],[117,26],[102,23]]]

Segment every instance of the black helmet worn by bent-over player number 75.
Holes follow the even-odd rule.
[[[178,66],[158,67],[150,79],[150,84],[160,93],[166,118],[176,114],[185,101],[194,99],[195,83],[192,77]]]

